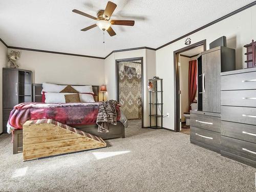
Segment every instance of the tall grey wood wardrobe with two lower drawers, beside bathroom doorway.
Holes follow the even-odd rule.
[[[220,153],[221,72],[235,70],[234,49],[216,47],[198,56],[198,111],[190,111],[190,142]]]

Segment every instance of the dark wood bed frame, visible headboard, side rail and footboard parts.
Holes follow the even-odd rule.
[[[77,86],[77,85],[74,85],[74,86]],[[99,86],[92,86],[92,87],[94,92],[94,100],[99,101]],[[41,98],[42,98],[41,91],[42,91],[42,84],[34,83],[33,84],[33,101],[34,102],[41,102]],[[98,136],[102,139],[113,139],[113,138],[125,137],[124,126],[120,121],[117,122],[117,125],[111,124],[110,130],[108,133],[98,132],[97,127],[98,127],[97,124],[74,126],[74,128],[78,130]],[[23,130],[14,130],[12,134],[13,134],[13,154],[23,152]]]

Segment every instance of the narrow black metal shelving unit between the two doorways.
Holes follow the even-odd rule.
[[[148,82],[153,83],[152,90],[148,91],[150,93],[150,126],[152,129],[162,129],[163,128],[163,79],[148,79]],[[158,82],[160,81],[160,90],[158,90]],[[154,94],[154,95],[153,95]],[[161,101],[159,102],[159,94]],[[153,106],[155,106],[153,108]],[[159,108],[160,106],[160,108]],[[160,110],[161,109],[161,110]],[[158,113],[160,111],[160,114]],[[152,118],[155,118],[155,125],[152,125]],[[161,126],[158,125],[158,121],[161,121]]]

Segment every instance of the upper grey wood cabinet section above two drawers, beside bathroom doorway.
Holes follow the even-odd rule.
[[[220,73],[235,70],[235,50],[217,47],[203,52],[200,59],[199,105],[204,112],[221,113]]]

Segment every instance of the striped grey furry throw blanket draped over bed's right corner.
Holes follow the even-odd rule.
[[[116,105],[117,101],[109,100],[103,101],[99,104],[99,112],[96,123],[98,125],[98,132],[109,132],[109,123],[117,124]]]

